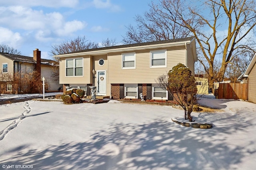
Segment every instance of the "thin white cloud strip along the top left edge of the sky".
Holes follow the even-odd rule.
[[[44,6],[51,8],[68,7],[74,8],[79,0],[1,0],[0,6]]]

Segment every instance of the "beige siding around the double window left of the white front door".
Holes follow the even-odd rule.
[[[66,76],[66,59],[84,59],[83,76]],[[91,58],[90,56],[61,58],[60,60],[60,84],[90,84],[91,83]]]

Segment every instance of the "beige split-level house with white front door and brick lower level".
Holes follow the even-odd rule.
[[[98,96],[114,99],[173,100],[155,82],[158,76],[182,63],[194,75],[197,61],[194,37],[86,49],[54,56],[60,60],[63,90],[96,86]]]

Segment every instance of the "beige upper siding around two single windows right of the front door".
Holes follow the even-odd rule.
[[[122,53],[108,54],[108,83],[155,83],[158,76],[166,74],[176,64],[186,65],[185,47],[166,50],[167,67],[165,68],[150,68],[150,51],[154,50],[134,51],[136,53],[136,69],[122,69]]]

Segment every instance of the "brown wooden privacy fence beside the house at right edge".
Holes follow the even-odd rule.
[[[220,83],[216,92],[218,99],[248,100],[248,83]]]

